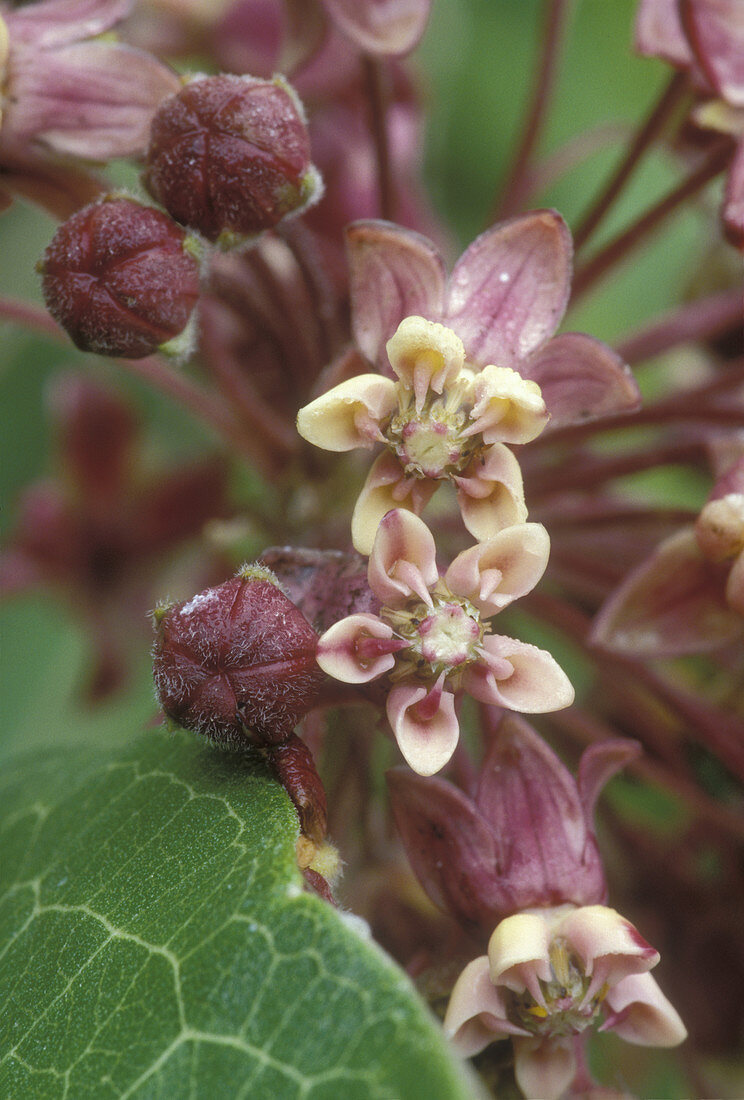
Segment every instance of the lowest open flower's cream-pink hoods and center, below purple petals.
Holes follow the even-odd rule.
[[[458,978],[445,1031],[464,1056],[511,1038],[526,1097],[558,1100],[577,1070],[573,1038],[592,1024],[644,1046],[677,1046],[687,1032],[648,971],[659,960],[637,930],[604,905],[515,913],[488,955]]]

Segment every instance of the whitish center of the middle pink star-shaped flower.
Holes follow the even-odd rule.
[[[433,606],[416,602],[403,609],[383,608],[381,615],[409,645],[398,653],[392,679],[415,676],[424,681],[451,678],[478,659],[488,628],[469,600],[453,596],[439,582]]]

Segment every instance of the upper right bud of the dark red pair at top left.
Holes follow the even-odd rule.
[[[229,243],[319,197],[302,105],[281,77],[197,77],[153,120],[144,184],[177,221]]]

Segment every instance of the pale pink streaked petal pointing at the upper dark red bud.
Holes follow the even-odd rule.
[[[43,57],[17,55],[3,128],[15,140],[90,161],[143,154],[155,110],[180,88],[167,66],[117,42],[76,43]]]

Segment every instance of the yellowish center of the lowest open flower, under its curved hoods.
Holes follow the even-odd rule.
[[[590,979],[560,939],[550,945],[550,971],[548,981],[540,980],[544,1004],[535,1001],[526,990],[523,993],[507,991],[508,1018],[512,1023],[544,1038],[576,1035],[597,1020],[606,988],[602,987],[584,1001]]]

